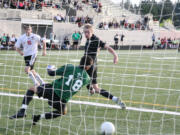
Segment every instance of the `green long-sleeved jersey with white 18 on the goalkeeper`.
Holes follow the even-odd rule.
[[[71,64],[62,66],[56,70],[56,75],[62,78],[52,82],[54,92],[63,102],[68,102],[69,99],[76,94],[84,85],[90,83],[90,78],[87,72]]]

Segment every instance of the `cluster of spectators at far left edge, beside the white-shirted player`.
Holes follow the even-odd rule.
[[[0,36],[0,48],[14,49],[16,41],[17,38],[15,34],[10,36],[9,34],[4,33],[2,36]]]

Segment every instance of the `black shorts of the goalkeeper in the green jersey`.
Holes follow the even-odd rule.
[[[66,103],[63,103],[60,97],[54,93],[53,86],[51,84],[44,84],[37,87],[37,95],[38,97],[48,99],[48,104],[57,109],[59,112],[64,112]]]

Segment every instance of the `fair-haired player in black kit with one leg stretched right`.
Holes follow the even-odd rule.
[[[87,85],[91,94],[99,93],[100,95],[114,101],[119,104],[122,109],[126,108],[124,102],[122,102],[118,97],[113,96],[107,90],[98,87],[97,83],[97,55],[101,48],[107,49],[114,56],[114,64],[118,63],[118,56],[113,48],[108,46],[105,42],[101,41],[96,35],[93,34],[93,27],[90,24],[84,26],[84,35],[87,39],[85,44],[84,56],[89,56],[93,59],[93,66],[87,70],[87,73],[91,77],[91,83]]]

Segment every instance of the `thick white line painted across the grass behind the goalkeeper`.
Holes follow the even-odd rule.
[[[2,96],[11,96],[11,97],[24,97],[24,95],[12,94],[12,93],[1,93],[1,92],[0,92],[0,95],[2,95]],[[34,98],[34,99],[45,100],[45,99],[42,99],[42,98],[38,98],[37,96],[34,96],[33,98]],[[87,102],[87,101],[75,101],[75,100],[70,100],[70,103],[81,104],[81,105],[97,106],[97,107],[105,107],[105,108],[121,109],[121,107],[118,106],[118,105],[102,104],[102,103]],[[161,110],[154,110],[154,109],[152,110],[152,109],[146,109],[146,108],[126,107],[126,110],[180,116],[180,112],[161,111]]]

